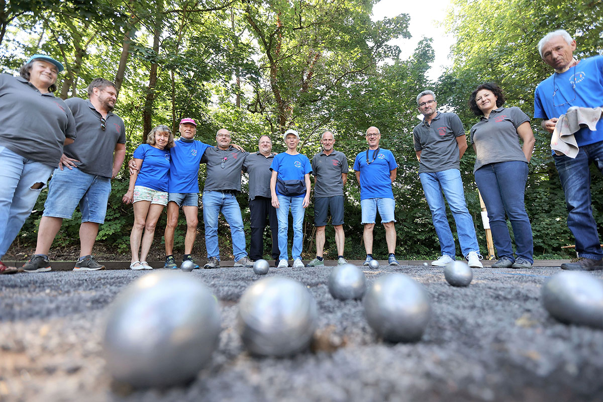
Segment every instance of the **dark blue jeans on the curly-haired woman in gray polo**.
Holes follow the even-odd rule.
[[[475,183],[488,210],[492,239],[499,258],[515,260],[506,212],[515,235],[517,257],[534,262],[532,225],[523,201],[527,180],[528,164],[517,160],[489,163],[475,171]]]

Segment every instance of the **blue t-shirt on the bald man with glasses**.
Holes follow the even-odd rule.
[[[356,155],[354,170],[360,172],[360,199],[394,198],[391,190],[390,172],[398,167],[394,154],[388,149],[379,149],[374,155],[374,149],[362,151]]]

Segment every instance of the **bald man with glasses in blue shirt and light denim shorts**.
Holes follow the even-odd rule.
[[[362,209],[362,224],[364,225],[364,248],[368,265],[373,259],[373,228],[377,218],[377,210],[381,216],[381,223],[385,227],[385,241],[389,253],[390,265],[399,265],[396,260],[396,227],[394,223],[394,192],[391,183],[396,180],[398,164],[394,154],[388,149],[379,148],[381,134],[379,128],[369,127],[367,130],[368,149],[356,155],[354,170],[356,180],[360,184],[360,207]]]

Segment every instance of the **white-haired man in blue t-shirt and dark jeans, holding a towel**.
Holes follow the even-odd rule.
[[[576,238],[576,262],[561,264],[561,269],[598,271],[603,269],[603,253],[590,201],[590,163],[603,172],[603,56],[578,60],[573,52],[576,41],[564,30],[547,34],[538,42],[538,52],[555,71],[534,92],[534,118],[549,133],[565,115],[595,113],[589,125],[582,124],[573,137],[578,154],[569,157],[553,152],[567,204],[567,226]],[[559,128],[558,128],[559,129]],[[573,155],[572,155],[573,156]]]

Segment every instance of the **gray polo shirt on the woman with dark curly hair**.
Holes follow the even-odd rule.
[[[528,163],[519,145],[517,127],[529,121],[528,115],[516,106],[499,107],[490,112],[490,117],[481,116],[471,128],[471,143],[475,144],[475,167],[473,173],[488,163],[521,160]]]

